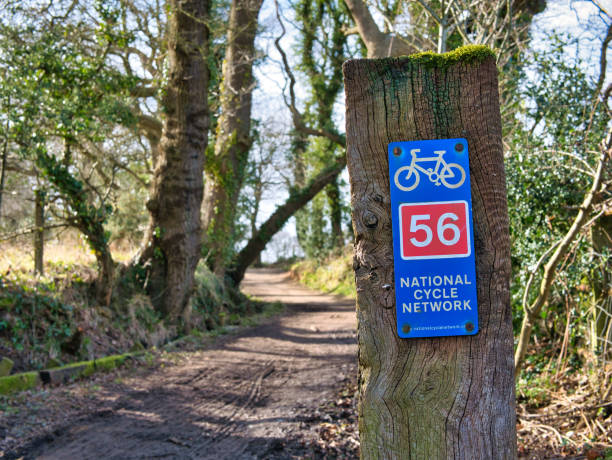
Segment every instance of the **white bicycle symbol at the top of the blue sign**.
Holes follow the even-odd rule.
[[[444,158],[442,157],[446,153],[446,150],[435,151],[434,153],[436,156],[434,157],[418,158],[417,153],[420,151],[421,149],[411,150],[410,155],[412,155],[412,161],[410,162],[410,166],[402,166],[395,172],[393,180],[395,181],[397,188],[403,190],[404,192],[414,190],[417,185],[419,185],[419,181],[421,180],[419,171],[427,175],[429,180],[436,185],[440,185],[441,182],[448,188],[461,187],[465,181],[465,170],[457,163],[447,163],[444,161]],[[419,165],[419,163],[428,161],[435,161],[436,166],[434,168],[425,169]],[[402,179],[402,183],[404,184],[402,185],[400,183],[400,175],[404,171],[408,171],[408,174]]]

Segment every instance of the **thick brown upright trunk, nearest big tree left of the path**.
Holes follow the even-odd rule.
[[[148,239],[136,259],[147,267],[153,305],[170,320],[188,311],[200,258],[209,6],[206,0],[169,2],[166,118],[147,203]]]

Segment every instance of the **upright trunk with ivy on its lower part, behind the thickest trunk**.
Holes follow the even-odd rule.
[[[202,203],[204,245],[212,269],[220,277],[232,255],[236,204],[252,144],[255,33],[262,1],[232,1],[215,153],[206,164]]]

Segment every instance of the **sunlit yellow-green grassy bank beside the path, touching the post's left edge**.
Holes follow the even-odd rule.
[[[353,247],[322,260],[307,259],[293,264],[291,275],[300,283],[318,291],[355,298]]]

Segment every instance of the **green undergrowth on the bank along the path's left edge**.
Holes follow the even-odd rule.
[[[165,322],[149,297],[129,283],[117,290],[110,306],[98,305],[92,300],[90,267],[45,268],[46,277],[25,270],[0,273],[0,359],[14,362],[13,374],[160,348],[179,339],[203,346],[206,337],[282,311],[280,304],[258,302],[225,286],[204,263],[197,269],[188,324]]]

